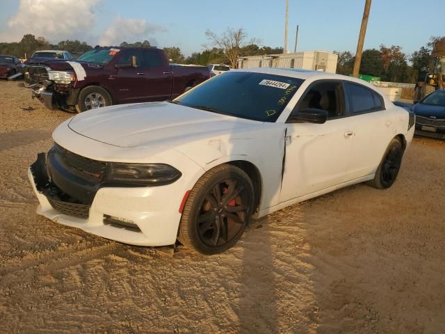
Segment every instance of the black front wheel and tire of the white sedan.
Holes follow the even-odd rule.
[[[236,244],[254,210],[250,177],[236,166],[217,166],[191,190],[179,224],[178,239],[205,255],[221,253]]]

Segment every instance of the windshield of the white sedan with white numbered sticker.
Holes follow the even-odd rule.
[[[248,120],[275,122],[302,82],[281,75],[230,71],[178,97],[175,103]]]

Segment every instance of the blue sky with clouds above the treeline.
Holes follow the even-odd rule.
[[[352,51],[364,0],[289,0],[288,49]],[[428,3],[428,6],[426,6]],[[1,0],[0,42],[25,33],[56,43],[79,39],[90,45],[149,40],[179,47],[188,56],[209,45],[205,31],[243,28],[261,45],[284,44],[285,0]],[[445,35],[445,0],[373,0],[364,49],[400,45],[411,54],[430,36]]]

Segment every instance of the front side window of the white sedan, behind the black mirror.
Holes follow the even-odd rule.
[[[316,84],[298,104],[298,109],[315,108],[327,111],[327,118],[344,116],[344,95],[340,83]]]

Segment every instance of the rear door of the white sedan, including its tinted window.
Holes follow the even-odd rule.
[[[375,173],[394,134],[393,114],[375,90],[345,82],[354,122],[354,145],[350,161],[350,179]]]

